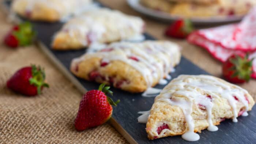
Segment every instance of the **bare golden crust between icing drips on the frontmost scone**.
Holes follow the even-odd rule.
[[[240,92],[244,92],[244,90],[240,89],[238,86],[234,86],[233,84],[227,83],[224,80],[219,79],[217,77],[212,77],[212,78],[222,83],[223,86],[225,85],[225,86],[231,87],[231,90],[233,90],[233,88],[238,88]],[[201,78],[200,75],[197,77],[194,77],[193,75],[191,76],[182,75],[178,77],[178,79],[183,79],[183,82],[187,82],[193,79],[197,79],[197,80],[202,79],[204,81],[208,80],[208,79],[205,79],[205,77]],[[172,87],[174,88],[178,85],[178,79],[174,79],[172,82],[170,82],[170,84],[168,84],[163,91],[169,90],[169,88],[170,88],[170,91],[172,91],[171,88]],[[196,82],[193,82],[193,83],[196,83]],[[176,91],[178,90],[179,88],[176,89]],[[191,87],[185,86],[184,90],[191,90]],[[210,95],[209,92],[202,90],[200,88],[196,88],[195,90],[204,95]],[[150,115],[148,117],[146,132],[148,133],[148,138],[151,140],[160,138],[160,137],[181,135],[188,131],[188,124],[185,121],[185,115],[181,107],[176,105],[170,105],[165,101],[158,101],[158,99],[161,99],[164,94],[165,93],[157,96],[157,98],[155,99],[155,103],[151,108]],[[219,95],[218,93],[215,93],[215,94]],[[248,110],[251,110],[255,102],[252,96],[247,92],[245,92],[244,96],[249,101]],[[174,92],[173,95],[171,96],[171,99],[178,101],[179,99],[186,99],[186,96],[179,95]],[[229,101],[226,98],[223,98],[221,96],[214,97],[212,100],[212,103],[213,103],[213,107],[212,107],[211,114],[212,114],[213,125],[219,125],[220,122],[222,121],[222,118],[230,119],[234,117],[233,108],[231,107]],[[191,116],[195,124],[194,132],[201,132],[201,130],[206,129],[209,126],[209,123],[207,121],[207,117],[208,117],[207,111],[206,109],[201,109],[201,108],[202,107],[200,107],[199,104],[193,101]],[[245,105],[244,103],[241,102],[241,100],[236,103],[237,113],[239,113],[240,111],[244,111],[245,109],[246,109]],[[163,123],[169,126],[169,130],[166,130],[164,133],[158,134],[157,129]]]

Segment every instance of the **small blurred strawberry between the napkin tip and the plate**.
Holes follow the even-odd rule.
[[[171,24],[165,31],[165,35],[173,38],[186,38],[193,31],[193,26],[188,19],[179,19]]]

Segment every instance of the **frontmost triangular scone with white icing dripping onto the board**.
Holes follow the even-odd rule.
[[[182,135],[188,141],[199,139],[193,132],[216,131],[225,118],[237,122],[255,104],[244,89],[208,75],[180,75],[155,98],[146,131],[149,139]]]

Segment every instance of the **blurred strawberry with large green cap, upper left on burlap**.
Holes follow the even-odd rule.
[[[11,48],[29,45],[35,37],[35,32],[29,22],[20,23],[12,27],[5,35],[4,43]]]

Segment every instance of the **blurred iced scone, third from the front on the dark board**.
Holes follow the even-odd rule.
[[[91,43],[110,43],[141,35],[144,22],[120,11],[99,8],[69,20],[56,33],[52,47],[58,50],[81,49]]]

